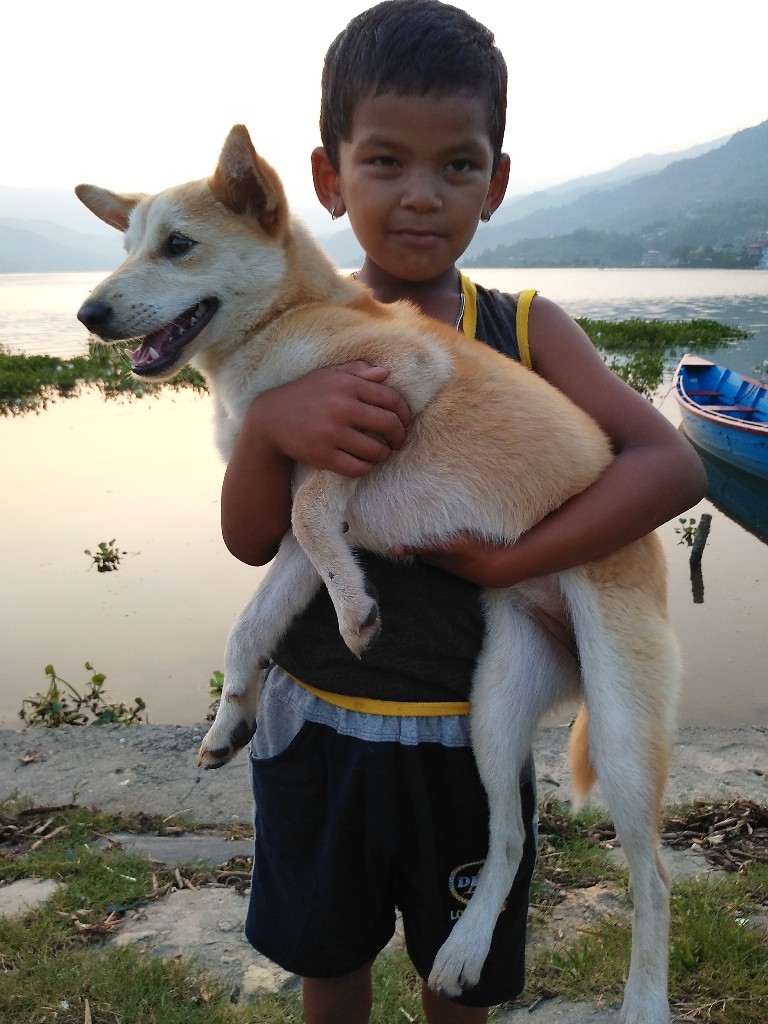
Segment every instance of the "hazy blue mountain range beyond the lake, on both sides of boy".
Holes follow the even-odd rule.
[[[733,136],[513,197],[465,266],[755,265],[768,252],[768,121]],[[315,226],[308,211],[297,211]],[[314,223],[313,223],[314,221]],[[321,234],[358,266],[350,230]],[[122,238],[65,188],[0,186],[0,272],[110,270]]]

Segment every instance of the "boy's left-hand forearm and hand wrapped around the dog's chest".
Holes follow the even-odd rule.
[[[383,383],[387,376],[383,367],[347,362],[251,403],[221,488],[221,531],[237,558],[263,565],[274,555],[291,524],[296,462],[365,476],[402,444],[411,413]]]

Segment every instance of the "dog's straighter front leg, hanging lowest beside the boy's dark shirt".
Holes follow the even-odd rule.
[[[220,768],[254,734],[269,658],[319,587],[321,579],[312,563],[294,536],[286,534],[259,589],[229,632],[221,700],[200,748],[198,761],[203,767]]]

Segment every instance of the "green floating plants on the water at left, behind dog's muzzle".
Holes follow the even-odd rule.
[[[206,391],[203,375],[185,367],[171,381],[152,383],[131,376],[130,345],[89,342],[88,354],[61,359],[20,355],[0,346],[0,415],[39,413],[59,398],[75,398],[96,388],[104,398],[144,398],[164,390]]]

